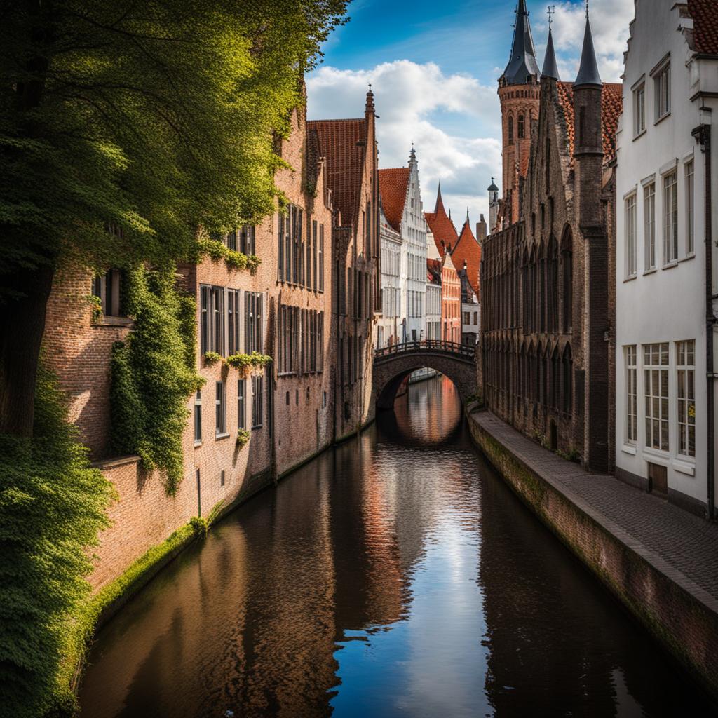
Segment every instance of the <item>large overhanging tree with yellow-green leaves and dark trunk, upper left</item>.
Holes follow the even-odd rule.
[[[58,265],[157,266],[193,256],[200,225],[223,231],[271,213],[281,165],[273,137],[286,134],[302,70],[320,57],[345,5],[4,4],[0,432],[32,424]]]

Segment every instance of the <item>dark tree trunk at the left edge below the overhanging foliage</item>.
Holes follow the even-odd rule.
[[[4,282],[24,296],[0,302],[0,434],[32,437],[37,363],[54,274],[44,266],[17,271]]]

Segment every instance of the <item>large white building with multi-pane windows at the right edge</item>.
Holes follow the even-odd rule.
[[[617,134],[616,474],[714,515],[718,13],[636,0],[630,29]]]

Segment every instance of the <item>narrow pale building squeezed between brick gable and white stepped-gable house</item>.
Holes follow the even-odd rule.
[[[401,234],[379,212],[381,248],[381,319],[376,325],[378,349],[396,344],[401,337]]]

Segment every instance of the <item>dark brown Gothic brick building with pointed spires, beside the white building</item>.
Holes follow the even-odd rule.
[[[530,40],[523,2],[519,10],[516,33]],[[521,48],[528,56],[533,43]],[[518,214],[505,205],[502,228],[482,246],[480,383],[502,419],[553,449],[577,454],[590,470],[607,471],[615,323],[612,164],[621,86],[600,80],[588,19],[574,83],[559,80],[550,31],[540,84],[530,75],[526,85],[523,71],[511,75],[515,65],[537,69],[535,59],[517,62],[513,55],[499,94],[536,100],[536,122],[525,164],[521,154],[525,179],[519,172],[510,189],[509,205]],[[516,109],[502,102],[502,111]],[[506,133],[507,123],[504,116]],[[504,157],[505,173],[506,162],[516,160]]]

